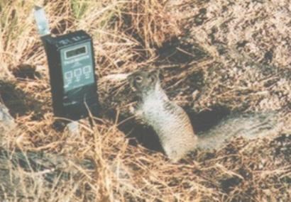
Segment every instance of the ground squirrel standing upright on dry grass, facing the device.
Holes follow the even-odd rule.
[[[139,70],[128,77],[139,98],[131,112],[153,127],[165,154],[177,162],[195,148],[217,148],[233,136],[255,138],[274,128],[272,114],[231,116],[203,134],[195,134],[187,113],[160,86],[159,70]]]

